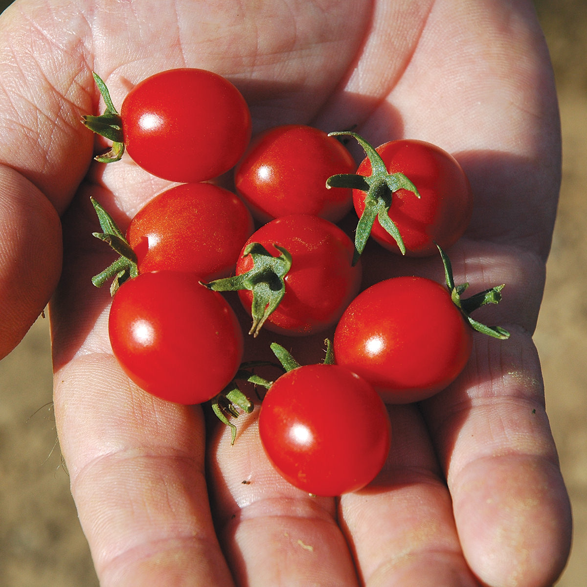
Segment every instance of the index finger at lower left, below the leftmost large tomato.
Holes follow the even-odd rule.
[[[55,373],[55,413],[100,585],[232,584],[210,516],[200,410],[148,396],[93,352]]]

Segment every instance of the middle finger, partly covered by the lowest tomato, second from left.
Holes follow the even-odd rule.
[[[258,410],[239,416],[208,453],[218,537],[240,585],[356,587],[357,579],[330,498],[311,497],[282,479],[258,438]]]

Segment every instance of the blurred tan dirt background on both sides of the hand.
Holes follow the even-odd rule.
[[[0,12],[10,2],[0,0]],[[535,341],[571,494],[573,551],[558,587],[587,584],[587,2],[535,0],[561,104],[564,177]],[[0,363],[0,586],[94,587],[51,404],[48,323]]]

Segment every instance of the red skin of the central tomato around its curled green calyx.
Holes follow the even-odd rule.
[[[255,231],[249,242],[261,243],[277,257],[274,243],[288,249],[292,266],[285,275],[285,295],[263,328],[287,335],[321,332],[338,321],[359,291],[360,264],[351,265],[353,243],[336,224],[310,214],[276,218]],[[246,247],[246,244],[245,244]],[[253,266],[250,256],[237,262],[237,274]],[[251,312],[252,292],[238,292]]]

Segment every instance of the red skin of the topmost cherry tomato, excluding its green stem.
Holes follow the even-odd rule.
[[[195,183],[235,166],[251,138],[244,97],[204,69],[170,69],[147,77],[120,109],[124,145],[157,177]]]

